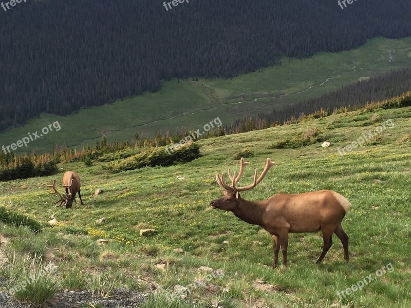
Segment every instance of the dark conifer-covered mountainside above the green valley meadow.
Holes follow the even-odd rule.
[[[321,4],[319,4],[321,3]],[[0,130],[143,91],[161,80],[229,77],[281,56],[411,35],[411,3],[43,0],[0,9]]]

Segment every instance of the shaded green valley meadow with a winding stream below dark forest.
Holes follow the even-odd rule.
[[[394,55],[392,62],[388,62],[389,52]],[[0,146],[21,140],[27,132],[39,131],[40,136],[42,128],[55,121],[61,125],[59,131],[49,132],[29,143],[27,148],[18,150],[50,150],[53,143],[81,149],[83,141],[94,144],[107,131],[111,131],[106,136],[109,141],[132,140],[136,132],[140,136],[152,136],[156,130],[174,132],[181,127],[202,128],[217,117],[224,125],[230,125],[238,118],[272,111],[274,107],[316,97],[357,80],[410,67],[411,37],[401,40],[375,38],[355,50],[321,52],[310,59],[292,59],[291,62],[283,59],[282,62],[281,66],[226,80],[174,79],[164,82],[156,93],[84,109],[67,117],[42,114],[23,127],[0,133]]]

